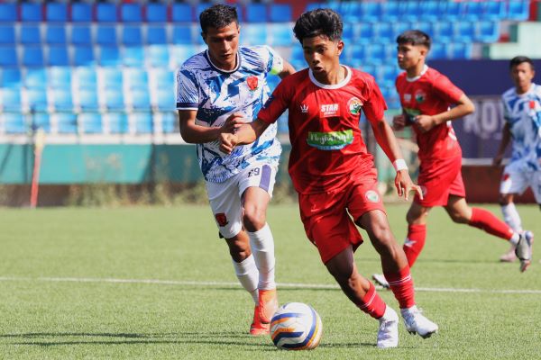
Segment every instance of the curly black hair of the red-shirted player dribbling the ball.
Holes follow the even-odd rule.
[[[329,40],[342,39],[342,19],[331,9],[316,9],[300,15],[293,32],[302,44],[306,38],[325,36]]]

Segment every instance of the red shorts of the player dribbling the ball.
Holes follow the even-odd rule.
[[[385,212],[377,184],[377,171],[371,169],[365,174],[353,175],[350,183],[338,191],[298,194],[300,219],[324,264],[346,247],[351,245],[355,250],[362,244],[353,220],[368,211]]]

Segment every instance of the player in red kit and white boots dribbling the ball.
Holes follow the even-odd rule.
[[[307,237],[346,296],[380,321],[377,346],[397,347],[397,313],[358,273],[353,261],[353,252],[362,243],[355,224],[366,230],[381,256],[383,272],[390,279],[408,331],[427,338],[438,328],[417,310],[408,260],[390,231],[376,188],[373,158],[362,140],[361,112],[397,169],[395,185],[399,195],[408,199],[411,190],[420,193],[420,188],[411,182],[406,162],[385,121],[387,105],[374,78],[340,64],[344,50],[342,28],[340,16],[330,9],[302,14],[293,31],[309,68],[284,78],[256,121],[238,124],[234,133],[223,133],[221,149],[231,152],[236,145],[255,141],[282,112],[289,110],[289,175],[298,192]]]

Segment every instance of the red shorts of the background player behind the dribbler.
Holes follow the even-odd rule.
[[[418,184],[424,199],[415,196],[421,206],[445,206],[449,195],[466,196],[462,178],[462,157],[451,157],[429,163],[421,163]]]

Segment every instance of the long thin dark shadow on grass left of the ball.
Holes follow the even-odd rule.
[[[16,338],[21,341],[14,345],[29,345],[38,347],[55,347],[70,345],[152,345],[152,344],[205,344],[219,346],[243,347],[270,347],[272,344],[255,343],[252,336],[234,331],[214,332],[179,332],[179,333],[112,333],[112,332],[43,332],[23,334],[1,334],[0,338]],[[49,338],[49,339],[48,339]],[[83,339],[69,339],[83,338]],[[111,338],[111,340],[97,340],[96,338]],[[248,340],[247,340],[248,339]]]

